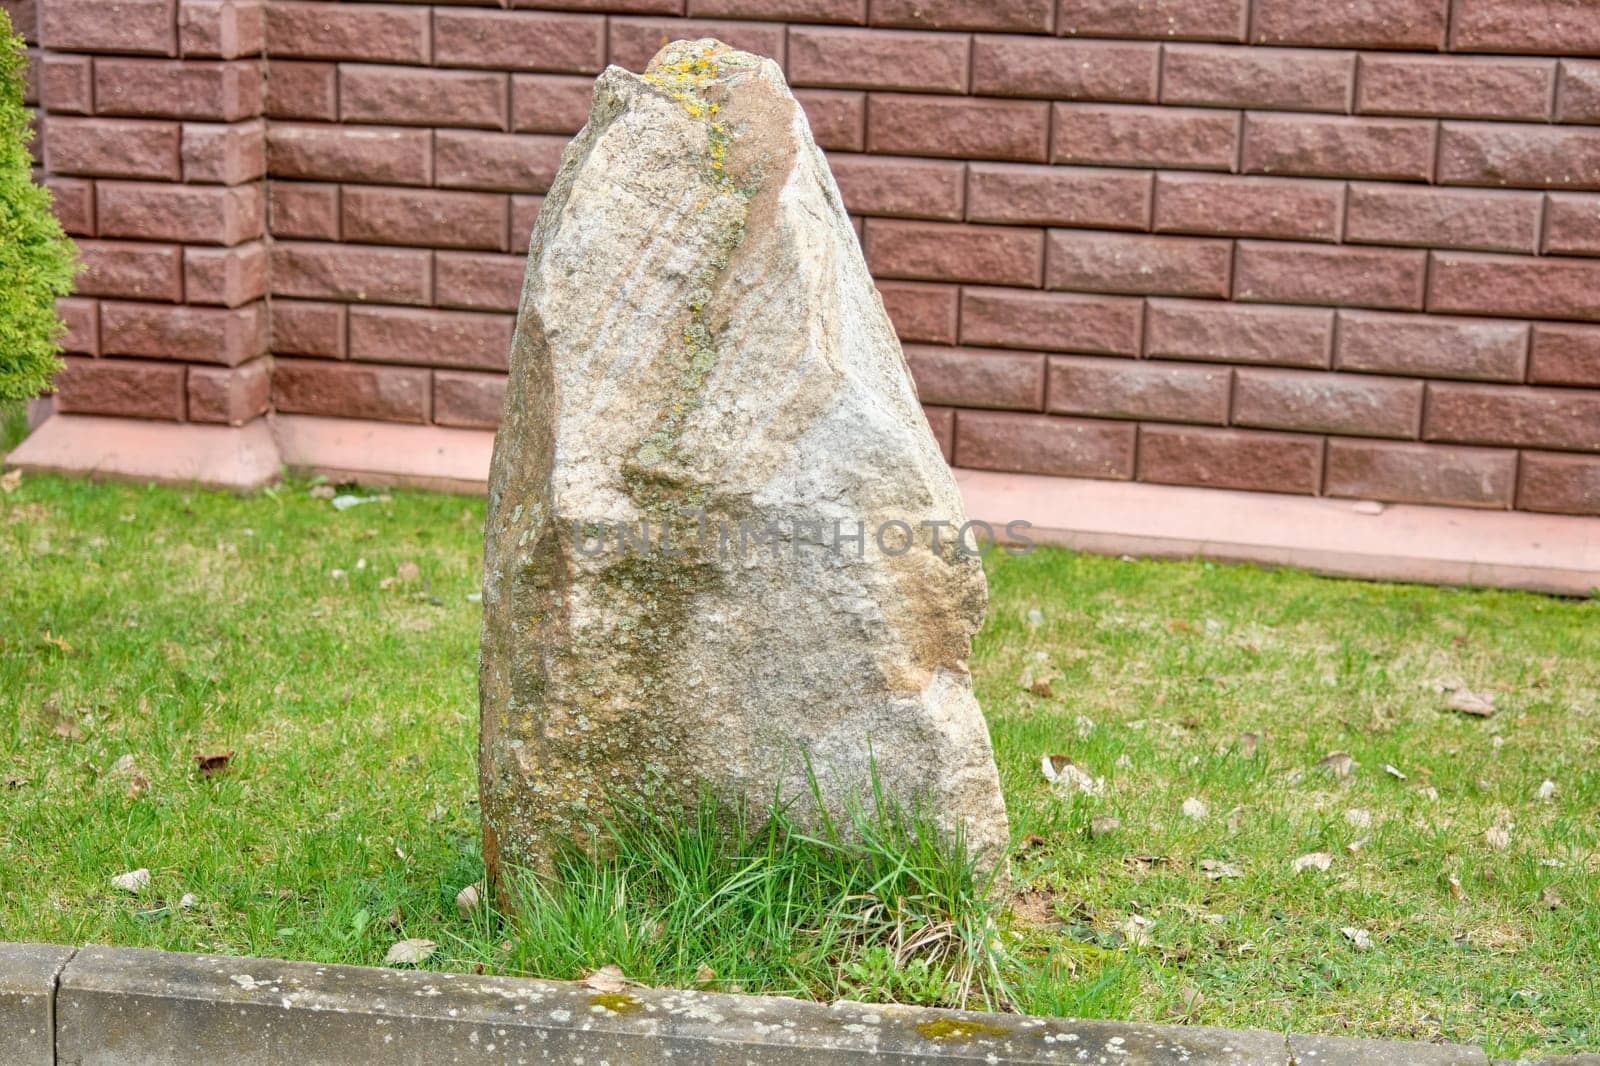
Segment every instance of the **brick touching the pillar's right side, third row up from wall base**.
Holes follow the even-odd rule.
[[[272,295],[354,303],[427,304],[434,253],[280,240],[272,245]]]

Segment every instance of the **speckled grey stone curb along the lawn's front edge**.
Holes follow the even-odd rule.
[[[45,944],[0,944],[0,1063],[1490,1066],[1458,1045]]]

